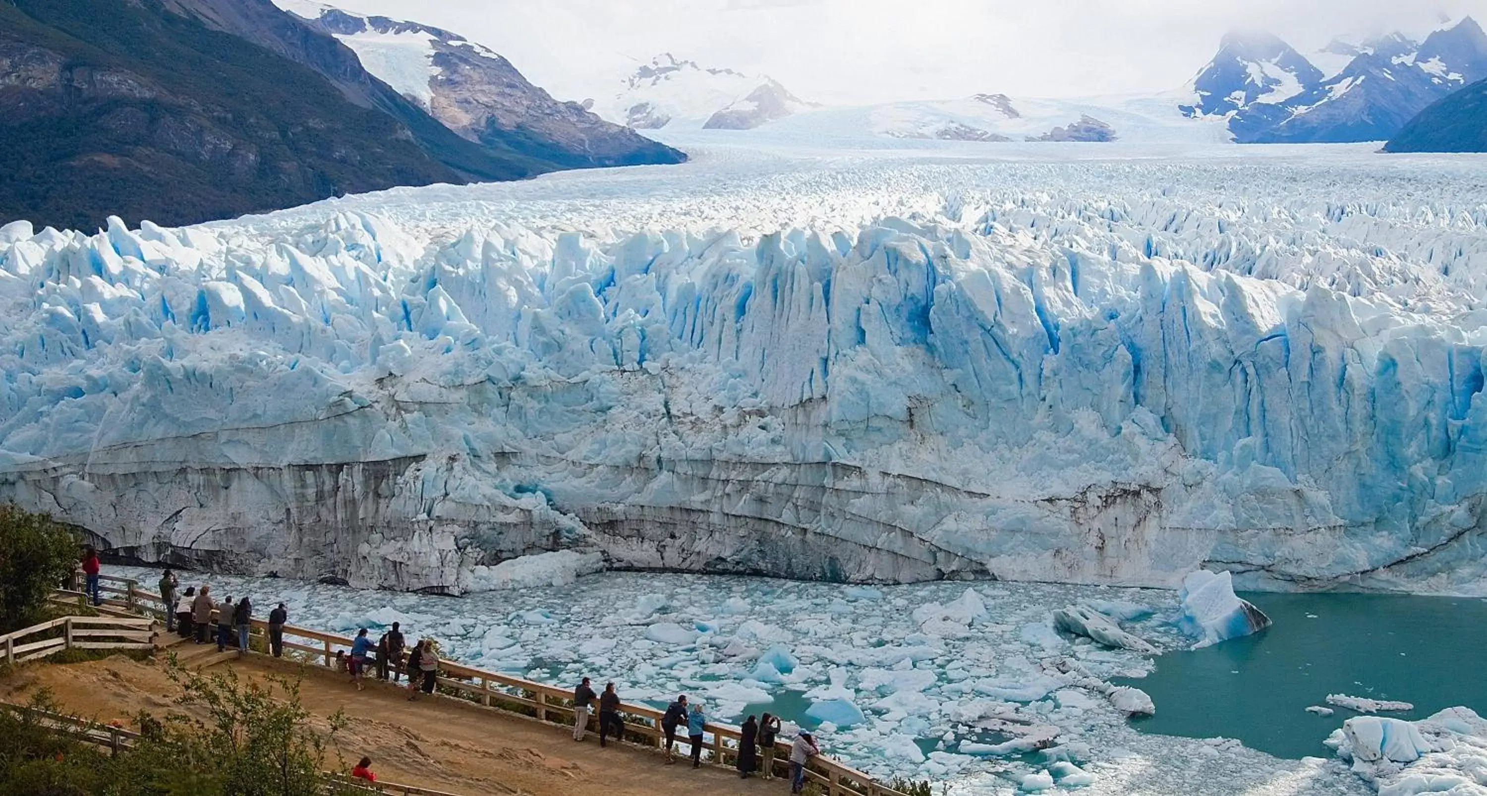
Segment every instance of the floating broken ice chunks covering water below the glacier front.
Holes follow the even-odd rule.
[[[584,675],[613,680],[625,699],[656,705],[687,693],[720,722],[773,711],[788,720],[787,735],[813,729],[830,754],[854,766],[949,784],[959,796],[1365,795],[1374,783],[1378,793],[1414,795],[1436,792],[1419,784],[1429,781],[1487,789],[1487,732],[1465,708],[1448,711],[1454,723],[1436,716],[1417,731],[1361,716],[1353,708],[1380,707],[1367,699],[1334,699],[1338,716],[1317,723],[1316,756],[1300,760],[1225,738],[1136,732],[1127,716],[1161,705],[1106,680],[1141,677],[1160,665],[1158,649],[1170,655],[1203,640],[1181,629],[1197,617],[1172,591],[577,577],[581,562],[552,555],[503,564],[504,589],[458,600],[196,573],[183,582],[202,577],[223,595],[250,595],[262,610],[283,600],[291,623],[348,635],[401,622],[415,638],[437,638],[452,659],[559,686]],[[149,583],[158,571],[120,574]],[[1062,606],[1097,614],[1148,647],[1060,632],[1053,609]],[[1328,725],[1341,729],[1328,738]],[[1338,754],[1326,756],[1323,741]]]

